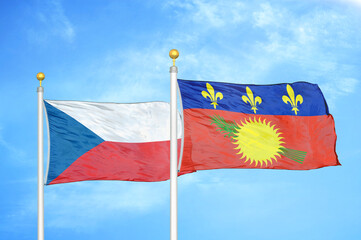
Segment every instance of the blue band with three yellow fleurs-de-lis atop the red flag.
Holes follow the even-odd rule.
[[[307,82],[252,85],[178,79],[178,84],[183,109],[202,108],[256,115],[329,114],[318,85]],[[222,98],[216,98],[216,95]]]

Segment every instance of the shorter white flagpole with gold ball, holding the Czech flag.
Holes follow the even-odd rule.
[[[38,92],[38,240],[44,240],[44,131],[43,131],[43,99],[44,88],[41,82],[45,75],[39,72],[36,78],[40,81]]]

